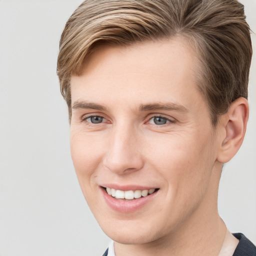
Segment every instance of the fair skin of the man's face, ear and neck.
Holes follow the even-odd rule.
[[[242,142],[248,104],[234,101],[213,128],[196,56],[181,37],[104,46],[71,76],[71,156],[116,256],[224,256],[237,244],[218,215],[217,191],[222,163]],[[122,199],[106,187],[153,192]]]

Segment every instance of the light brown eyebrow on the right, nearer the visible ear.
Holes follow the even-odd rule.
[[[139,106],[139,111],[149,111],[149,110],[175,110],[180,112],[188,112],[188,109],[177,103],[152,103],[152,104],[141,104]]]

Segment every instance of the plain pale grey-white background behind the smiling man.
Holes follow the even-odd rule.
[[[101,255],[109,238],[80,191],[67,107],[56,76],[58,41],[81,0],[0,0],[0,256]],[[256,0],[243,0],[256,32]],[[255,34],[252,41],[255,49]],[[224,167],[219,213],[256,243],[256,63],[245,141]]]

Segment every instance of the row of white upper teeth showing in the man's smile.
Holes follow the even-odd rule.
[[[110,187],[106,187],[106,192],[115,197],[115,198],[118,198],[118,199],[128,199],[128,200],[131,200],[131,199],[137,199],[137,198],[140,198],[141,196],[145,197],[147,196],[148,194],[151,194],[155,191],[155,188],[151,188],[151,189],[144,189],[144,190],[128,190],[128,191],[122,191],[122,190],[119,190],[119,189],[114,189],[114,188],[110,188]]]

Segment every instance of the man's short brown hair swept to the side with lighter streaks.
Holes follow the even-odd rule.
[[[57,59],[60,90],[71,118],[70,76],[97,46],[127,45],[182,35],[200,66],[197,85],[215,126],[238,97],[247,98],[250,29],[237,0],[85,0],[62,32]]]

